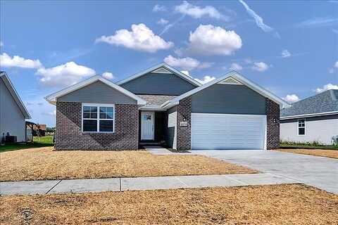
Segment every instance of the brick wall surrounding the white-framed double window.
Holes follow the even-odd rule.
[[[114,133],[83,133],[81,120],[81,103],[56,103],[56,150],[134,150],[139,147],[137,105],[115,104]]]

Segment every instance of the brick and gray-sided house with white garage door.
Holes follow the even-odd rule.
[[[94,76],[46,96],[56,149],[270,149],[287,105],[237,72],[201,85],[165,63],[116,84]]]

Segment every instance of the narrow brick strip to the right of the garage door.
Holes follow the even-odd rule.
[[[265,113],[267,120],[266,148],[274,149],[280,146],[280,105],[265,98]]]

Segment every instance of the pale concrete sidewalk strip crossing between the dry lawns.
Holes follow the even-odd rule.
[[[84,193],[95,191],[139,191],[172,188],[230,187],[268,184],[296,184],[275,174],[226,174],[199,176],[153,176],[111,179],[0,182],[1,195]]]

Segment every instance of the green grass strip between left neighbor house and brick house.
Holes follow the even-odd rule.
[[[20,150],[27,148],[42,148],[46,146],[54,146],[53,144],[53,136],[42,136],[39,138],[38,136],[33,137],[33,142],[27,143],[6,143],[5,146],[0,146],[0,153],[4,153],[6,151],[11,150]]]

